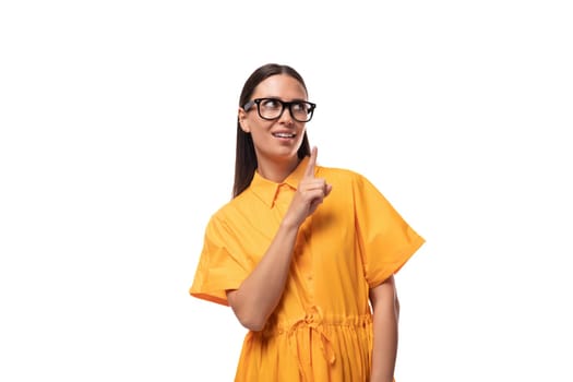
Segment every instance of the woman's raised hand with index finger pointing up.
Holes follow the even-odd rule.
[[[318,148],[312,147],[310,159],[305,170],[305,176],[300,180],[297,192],[290,202],[285,220],[300,226],[305,219],[317,211],[318,206],[324,201],[332,190],[332,184],[326,180],[314,177],[317,166]]]

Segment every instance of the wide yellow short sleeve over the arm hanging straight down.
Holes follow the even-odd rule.
[[[365,277],[373,288],[398,272],[425,240],[368,179],[358,175],[353,187]]]

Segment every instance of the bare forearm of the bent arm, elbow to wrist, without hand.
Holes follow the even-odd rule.
[[[263,329],[285,288],[298,226],[282,224],[271,246],[239,289],[227,294],[241,324],[252,331]]]

